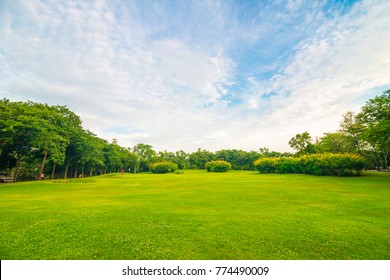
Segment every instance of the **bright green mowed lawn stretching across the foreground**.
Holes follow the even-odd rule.
[[[390,174],[0,185],[1,259],[390,259]]]

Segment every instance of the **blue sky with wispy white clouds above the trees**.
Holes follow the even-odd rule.
[[[0,97],[125,147],[290,151],[388,88],[388,0],[0,0]]]

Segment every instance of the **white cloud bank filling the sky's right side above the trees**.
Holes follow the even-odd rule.
[[[265,101],[271,107],[267,127],[284,131],[285,141],[288,134],[337,129],[343,113],[363,105],[355,100],[390,84],[389,46],[387,2],[362,2],[328,22],[299,45],[281,74],[255,85],[257,103],[263,93],[278,93]]]

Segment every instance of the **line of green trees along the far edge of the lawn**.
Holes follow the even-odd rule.
[[[367,167],[386,169],[390,151],[390,90],[367,101],[357,114],[347,112],[340,129],[313,140],[308,132],[295,135],[289,145],[296,153],[198,149],[156,152],[139,143],[121,147],[82,127],[80,117],[66,106],[31,101],[0,100],[0,171],[16,180],[78,178],[126,170],[148,172],[157,162],[172,162],[179,169],[205,169],[206,163],[224,160],[235,170],[254,170],[259,158],[289,158],[318,153],[358,154]]]

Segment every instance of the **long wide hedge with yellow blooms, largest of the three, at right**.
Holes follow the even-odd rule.
[[[354,154],[312,154],[297,158],[260,158],[254,162],[260,173],[301,173],[312,175],[360,175],[365,160]]]

